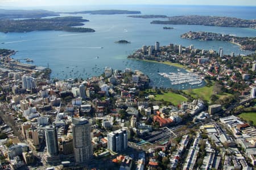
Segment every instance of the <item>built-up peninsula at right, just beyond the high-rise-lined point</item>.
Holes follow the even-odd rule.
[[[256,50],[256,38],[255,37],[238,37],[233,35],[217,34],[213,32],[192,32],[189,31],[181,35],[181,38],[203,41],[223,41],[238,44],[243,50]]]

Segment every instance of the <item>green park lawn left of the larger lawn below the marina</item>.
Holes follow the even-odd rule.
[[[181,96],[180,94],[176,94],[176,93],[172,93],[172,92],[167,92],[164,94],[156,94],[155,99],[158,101],[163,99],[164,101],[171,102],[175,106],[180,104],[182,101],[188,100],[184,96]]]

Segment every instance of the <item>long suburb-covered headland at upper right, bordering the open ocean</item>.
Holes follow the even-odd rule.
[[[153,20],[151,24],[187,24],[218,27],[245,27],[256,29],[256,20],[247,20],[225,16],[170,16],[168,17],[168,20]]]

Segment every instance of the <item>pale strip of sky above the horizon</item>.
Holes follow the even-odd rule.
[[[76,5],[230,5],[256,6],[256,0],[0,0],[0,6]]]

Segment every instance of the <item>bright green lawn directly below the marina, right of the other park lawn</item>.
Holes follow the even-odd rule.
[[[189,94],[189,90],[184,90],[185,93]],[[190,94],[192,97],[201,98],[207,101],[210,101],[210,96],[213,93],[213,86],[204,86],[203,88],[199,89],[192,89]]]

